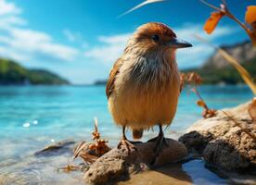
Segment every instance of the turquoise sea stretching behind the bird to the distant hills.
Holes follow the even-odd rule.
[[[202,86],[199,92],[216,109],[250,100],[246,86]],[[197,97],[188,90],[181,94],[178,111],[166,135],[177,138],[200,118]],[[67,138],[88,141],[98,118],[103,138],[116,144],[121,129],[108,111],[104,86],[7,86],[0,87],[0,159],[32,154],[51,142]],[[147,140],[155,132],[146,133]],[[128,136],[130,136],[128,132]]]

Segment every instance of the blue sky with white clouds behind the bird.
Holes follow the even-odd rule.
[[[193,48],[178,50],[180,68],[197,67],[213,52],[198,42],[197,33],[217,45],[245,41],[247,35],[232,20],[221,20],[210,36],[203,31],[211,8],[198,0],[166,0],[143,6],[117,19],[143,0],[0,0],[0,56],[28,68],[46,68],[72,83],[108,78],[127,39],[141,24],[168,24]],[[210,0],[218,6],[221,1]],[[227,0],[238,19],[255,0]]]

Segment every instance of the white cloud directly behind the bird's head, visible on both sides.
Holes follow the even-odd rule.
[[[177,61],[181,68],[200,65],[211,55],[213,49],[211,46],[200,43],[193,34],[198,34],[203,38],[214,42],[225,35],[237,31],[236,28],[218,27],[211,35],[203,31],[203,26],[198,24],[186,24],[183,27],[173,28],[177,37],[193,44],[192,48],[180,49],[177,51]],[[99,36],[99,46],[95,46],[84,53],[84,56],[93,58],[96,61],[111,65],[119,56],[132,33],[123,33],[111,36]]]

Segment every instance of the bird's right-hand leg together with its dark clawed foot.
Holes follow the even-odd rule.
[[[155,165],[159,155],[160,155],[160,152],[166,147],[168,146],[168,143],[166,142],[165,138],[164,138],[164,134],[163,134],[163,131],[162,131],[162,126],[159,124],[159,128],[160,128],[160,133],[158,135],[158,137],[156,138],[153,138],[151,140],[149,140],[148,142],[156,142],[156,146],[154,148],[154,153],[155,153],[155,156],[153,158],[153,161],[151,162],[152,165]]]

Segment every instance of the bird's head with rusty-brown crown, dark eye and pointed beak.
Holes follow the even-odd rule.
[[[175,51],[178,48],[191,47],[191,43],[179,40],[167,25],[149,22],[140,26],[130,39],[130,45],[144,52]]]

